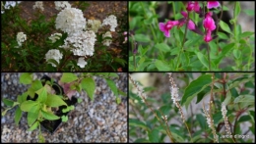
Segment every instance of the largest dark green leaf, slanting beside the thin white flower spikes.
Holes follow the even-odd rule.
[[[181,105],[186,107],[190,104],[192,99],[212,82],[211,74],[204,74],[193,80],[185,89],[184,96],[181,99]]]

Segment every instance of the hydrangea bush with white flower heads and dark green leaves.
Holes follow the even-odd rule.
[[[24,2],[26,3],[26,2]],[[5,5],[5,2],[1,2]],[[109,52],[115,41],[112,35],[122,34],[122,21],[109,14],[102,23],[88,20],[83,11],[86,2],[69,4],[54,2],[58,14],[45,19],[43,2],[32,7],[35,20],[26,21],[19,6],[3,7],[1,14],[1,55],[3,71],[109,71],[116,72],[127,63],[124,56],[115,58]],[[119,18],[118,18],[119,19]],[[119,26],[121,30],[116,30]],[[126,45],[123,45],[124,47]],[[16,63],[11,63],[16,62]]]

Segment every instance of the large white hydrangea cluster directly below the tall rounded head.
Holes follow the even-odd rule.
[[[70,34],[61,47],[71,48],[73,54],[77,56],[93,56],[95,52],[95,42],[96,33],[94,31],[80,31]]]

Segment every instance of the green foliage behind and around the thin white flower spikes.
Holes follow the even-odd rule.
[[[254,72],[172,72],[172,78],[178,88],[178,103],[184,114],[184,122],[179,108],[173,103],[171,93],[162,91],[165,88],[169,90],[168,87],[173,86],[173,83],[169,82],[166,74],[156,75],[158,79],[163,80],[154,85],[157,91],[146,91],[145,89],[149,88],[141,87],[147,96],[145,102],[142,101],[142,96],[138,95],[135,86],[132,83],[129,85],[130,142],[213,142],[213,131],[202,111],[203,103],[206,109],[211,107],[210,115],[219,137],[227,134],[222,112],[223,104],[227,111],[226,118],[232,123],[229,124],[232,135],[248,136],[255,133]],[[209,105],[211,95],[214,99]],[[162,119],[165,116],[166,123]],[[251,141],[253,139],[250,136],[245,139],[219,138],[220,143]]]

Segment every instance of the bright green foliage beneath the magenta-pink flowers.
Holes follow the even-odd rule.
[[[199,2],[202,10],[202,2]],[[168,9],[163,9],[168,8]],[[206,6],[206,4],[205,4]],[[218,16],[215,19],[217,33],[211,42],[204,41],[205,16],[199,17],[194,11],[189,19],[202,30],[203,35],[183,26],[173,26],[170,37],[160,31],[160,23],[180,21],[186,12],[187,3],[182,2],[129,2],[130,45],[129,71],[132,72],[202,72],[202,71],[249,71],[252,72],[255,58],[253,31],[242,31],[238,22],[242,12],[253,19],[254,10],[242,10],[240,2],[233,3],[233,18],[229,23],[220,19],[228,8],[211,9]],[[166,11],[165,11],[166,10]],[[170,12],[168,12],[170,11]],[[208,12],[208,11],[207,11]],[[168,13],[164,18],[163,13]],[[162,17],[163,16],[163,17]],[[224,17],[223,17],[224,18]],[[231,24],[231,25],[230,25]],[[185,32],[186,31],[186,32]],[[134,50],[137,49],[137,53]],[[229,63],[233,62],[233,63]],[[226,67],[225,67],[226,66]]]

